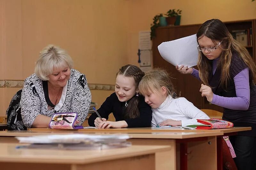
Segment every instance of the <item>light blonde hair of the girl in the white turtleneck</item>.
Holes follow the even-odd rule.
[[[165,87],[167,89],[167,95],[171,95],[172,98],[177,98],[171,79],[172,77],[166,70],[155,68],[145,74],[141,79],[139,91],[145,96],[148,92],[160,93],[161,87]]]

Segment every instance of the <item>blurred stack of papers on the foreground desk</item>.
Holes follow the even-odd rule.
[[[49,149],[107,149],[131,146],[128,135],[61,134],[34,137],[16,137],[25,148]]]

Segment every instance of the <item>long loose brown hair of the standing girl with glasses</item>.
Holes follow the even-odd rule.
[[[221,45],[218,48],[222,52],[217,67],[221,69],[220,85],[222,87],[227,88],[230,80],[229,67],[232,53],[236,53],[238,57],[241,57],[250,70],[250,78],[256,80],[256,67],[252,57],[247,49],[233,38],[222,21],[219,19],[205,21],[196,33],[197,43],[203,36],[210,38],[215,45],[217,45],[215,41],[221,41]],[[204,85],[210,86],[208,81],[209,75],[212,74],[212,61],[207,59],[202,51],[199,51],[197,67],[199,69],[199,77]]]

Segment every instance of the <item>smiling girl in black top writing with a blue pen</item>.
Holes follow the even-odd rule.
[[[89,125],[100,129],[150,127],[152,110],[138,89],[144,75],[135,65],[121,67],[116,73],[115,92],[97,110],[102,120],[92,114],[88,119]],[[113,113],[116,122],[107,121],[110,113]]]

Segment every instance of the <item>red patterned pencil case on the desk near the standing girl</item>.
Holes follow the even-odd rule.
[[[232,128],[234,124],[222,119],[197,119],[197,122],[204,125],[197,125],[196,129],[223,129]]]

